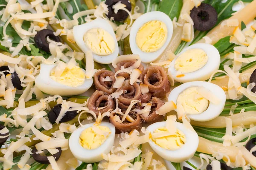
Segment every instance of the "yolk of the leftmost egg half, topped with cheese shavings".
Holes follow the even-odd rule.
[[[82,69],[78,66],[75,66],[71,69],[65,68],[65,70],[59,77],[55,76],[54,70],[55,69],[52,69],[50,78],[60,84],[67,85],[70,87],[78,87],[84,84],[85,74],[84,71],[82,71]]]

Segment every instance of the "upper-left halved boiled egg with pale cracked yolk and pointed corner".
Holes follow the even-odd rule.
[[[116,34],[111,25],[102,18],[74,26],[73,35],[76,44],[84,53],[92,51],[96,62],[110,64],[118,56]]]

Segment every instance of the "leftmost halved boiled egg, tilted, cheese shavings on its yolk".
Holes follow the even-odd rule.
[[[35,86],[50,95],[77,95],[87,91],[93,79],[85,78],[85,70],[78,66],[65,68],[61,75],[56,75],[57,64],[41,64],[40,74],[35,79]]]

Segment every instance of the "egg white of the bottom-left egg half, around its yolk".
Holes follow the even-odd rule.
[[[79,136],[83,130],[92,127],[94,124],[95,123],[90,123],[79,127],[71,134],[69,139],[69,147],[73,155],[76,157],[76,159],[86,163],[101,161],[103,159],[102,153],[108,154],[111,151],[115,140],[115,126],[108,122],[101,122],[101,126],[107,126],[111,131],[111,134],[108,136],[105,142],[96,149],[88,150],[82,147],[79,144]]]

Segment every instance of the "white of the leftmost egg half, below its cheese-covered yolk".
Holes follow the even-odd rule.
[[[41,64],[40,66],[40,73],[35,79],[35,85],[37,88],[39,88],[39,90],[43,91],[44,93],[50,95],[58,94],[60,96],[78,95],[84,93],[93,85],[93,79],[85,79],[84,84],[78,87],[70,87],[58,83],[50,77],[51,70],[55,66],[57,66],[57,64]],[[85,70],[83,71],[85,73]]]

